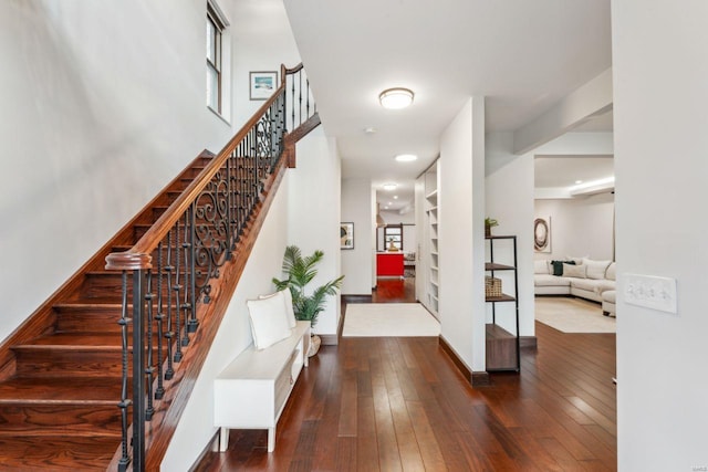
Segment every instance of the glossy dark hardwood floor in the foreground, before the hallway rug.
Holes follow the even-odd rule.
[[[233,430],[196,470],[616,470],[615,335],[537,336],[520,375],[476,388],[437,338],[341,338],[303,370],[273,453],[264,431]]]

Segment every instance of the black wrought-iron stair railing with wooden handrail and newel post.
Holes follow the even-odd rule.
[[[281,84],[271,98],[132,249],[106,258],[107,270],[123,272],[118,470],[145,469],[146,423],[199,327],[199,306],[211,302],[212,282],[231,261],[258,209],[289,130],[315,120],[319,124],[302,64],[281,66]]]

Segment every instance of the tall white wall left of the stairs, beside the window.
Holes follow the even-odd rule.
[[[0,339],[231,136],[206,106],[205,14],[196,0],[0,2]]]

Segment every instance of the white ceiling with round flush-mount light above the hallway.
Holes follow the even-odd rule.
[[[610,0],[283,2],[343,178],[396,181],[402,204],[467,97],[486,96],[487,132],[511,132],[612,63]],[[393,86],[414,105],[382,108]]]

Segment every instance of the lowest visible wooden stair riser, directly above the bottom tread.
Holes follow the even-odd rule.
[[[0,436],[121,436],[121,397],[111,405],[37,405],[18,400],[0,405]]]

